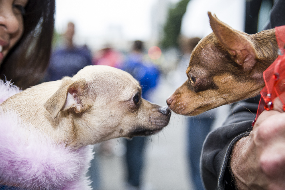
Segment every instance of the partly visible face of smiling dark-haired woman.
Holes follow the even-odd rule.
[[[28,0],[0,0],[0,64],[23,34]]]

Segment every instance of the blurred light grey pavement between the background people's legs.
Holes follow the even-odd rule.
[[[158,87],[154,90],[152,102],[166,106],[166,99],[176,85],[170,84],[161,76]],[[228,106],[222,111],[227,111]],[[220,114],[226,115],[226,114]],[[217,118],[216,126],[224,118]],[[145,160],[141,190],[190,190],[193,189],[188,160],[186,158],[186,116],[172,112],[168,126],[161,132],[148,138],[145,147]],[[115,156],[99,155],[99,169],[102,190],[125,190],[126,161],[124,157],[125,139],[116,139]]]

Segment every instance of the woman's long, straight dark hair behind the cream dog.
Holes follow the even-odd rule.
[[[50,58],[55,0],[29,0],[23,36],[0,67],[0,77],[25,89],[39,83]]]

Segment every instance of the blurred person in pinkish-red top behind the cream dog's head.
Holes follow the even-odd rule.
[[[110,45],[106,45],[106,48],[103,48],[96,52],[95,56],[92,59],[92,64],[107,65],[121,69],[123,64],[123,54],[111,48]]]

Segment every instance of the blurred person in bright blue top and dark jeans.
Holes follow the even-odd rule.
[[[151,96],[151,90],[157,85],[160,71],[151,61],[144,59],[143,50],[143,42],[140,40],[135,41],[132,52],[127,55],[123,69],[140,82],[142,97],[148,100]],[[140,189],[145,139],[145,137],[137,136],[127,140],[127,188],[130,190]]]

